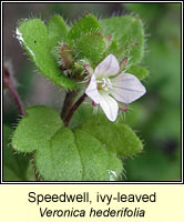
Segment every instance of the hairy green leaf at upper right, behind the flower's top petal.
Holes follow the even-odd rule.
[[[121,16],[101,21],[104,34],[112,34],[119,43],[122,57],[131,58],[130,62],[137,64],[144,56],[144,29],[137,17]]]

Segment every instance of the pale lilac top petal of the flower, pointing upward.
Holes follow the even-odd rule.
[[[109,54],[94,70],[96,79],[117,74],[120,70],[119,61],[113,54]]]

